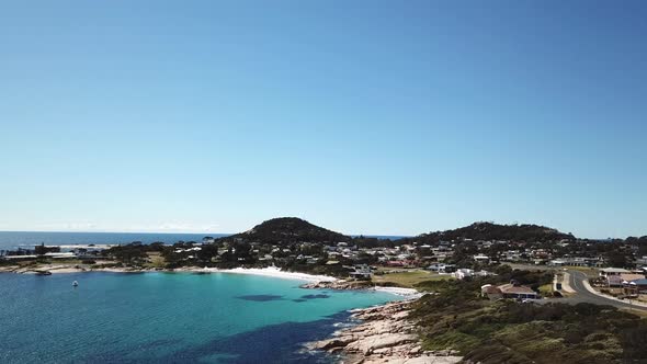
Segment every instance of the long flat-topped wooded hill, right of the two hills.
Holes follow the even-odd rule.
[[[408,238],[406,240],[438,243],[441,240],[452,241],[457,239],[511,241],[576,240],[572,234],[560,232],[545,226],[531,224],[499,225],[493,223],[474,223],[466,227],[422,234],[416,238]]]

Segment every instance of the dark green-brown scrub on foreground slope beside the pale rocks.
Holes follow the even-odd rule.
[[[518,278],[533,286],[542,272],[512,271],[501,276],[419,284],[433,294],[417,300],[424,350],[452,349],[465,362],[629,363],[647,357],[647,320],[610,306],[489,300],[480,287]]]

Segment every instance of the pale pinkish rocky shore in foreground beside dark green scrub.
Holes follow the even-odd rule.
[[[331,339],[308,344],[311,350],[342,354],[342,363],[352,364],[453,364],[462,357],[447,351],[424,351],[409,319],[411,302],[357,309],[351,316],[362,323],[340,330]]]

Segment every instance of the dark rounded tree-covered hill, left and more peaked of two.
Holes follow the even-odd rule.
[[[252,229],[232,235],[222,240],[239,239],[248,242],[291,243],[308,242],[339,242],[352,238],[322,227],[313,225],[297,217],[279,217],[254,226]]]

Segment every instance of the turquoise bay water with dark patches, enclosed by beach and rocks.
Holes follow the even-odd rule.
[[[0,363],[324,363],[303,343],[334,331],[348,309],[397,298],[299,284],[227,273],[0,274]]]

